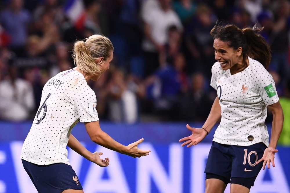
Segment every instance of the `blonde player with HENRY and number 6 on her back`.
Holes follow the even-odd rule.
[[[38,192],[83,192],[69,164],[66,146],[101,167],[109,165],[108,158],[100,158],[101,152],[89,152],[70,134],[79,121],[99,145],[132,157],[149,154],[150,151],[137,148],[143,139],[124,146],[100,128],[96,95],[87,81],[97,81],[109,69],[113,49],[111,41],[102,35],[77,41],[73,55],[76,68],[60,72],[45,84],[41,106],[21,152],[23,166]]]

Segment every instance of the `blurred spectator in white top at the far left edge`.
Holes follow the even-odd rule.
[[[7,79],[0,81],[0,118],[24,121],[34,108],[32,85],[17,77],[17,68],[10,66]]]

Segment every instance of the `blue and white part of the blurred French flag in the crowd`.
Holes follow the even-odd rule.
[[[85,6],[82,0],[67,0],[64,6],[64,12],[72,23],[76,23],[84,13]]]

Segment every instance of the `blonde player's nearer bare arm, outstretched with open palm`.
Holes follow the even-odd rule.
[[[139,148],[137,148],[137,145],[144,140],[143,138],[140,139],[139,141],[131,143],[128,146],[125,146],[125,145],[122,145],[121,143],[118,143],[112,137],[110,137],[108,134],[102,131],[99,125],[99,121],[85,123],[85,127],[90,136],[90,139],[93,142],[99,145],[102,145],[105,148],[119,152],[121,154],[129,155],[132,157],[141,157],[141,156],[149,155],[150,150],[145,151],[145,150],[140,150]]]

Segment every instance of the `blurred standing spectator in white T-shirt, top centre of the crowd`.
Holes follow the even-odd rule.
[[[150,8],[148,4],[153,0],[145,2],[144,8]],[[167,43],[167,30],[175,25],[182,31],[182,23],[177,14],[171,9],[171,0],[159,0],[160,7],[144,10],[142,19],[144,20],[145,39],[142,43],[145,57],[145,75],[148,76],[159,67],[159,53],[164,50]]]

